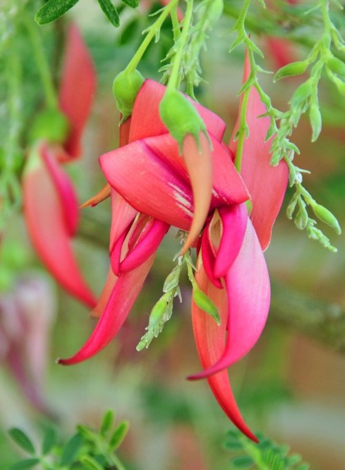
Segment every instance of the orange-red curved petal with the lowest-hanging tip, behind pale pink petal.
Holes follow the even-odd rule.
[[[228,311],[226,290],[219,290],[206,276],[204,266],[200,263],[195,276],[199,287],[206,293],[217,305],[221,315],[221,325],[218,326],[208,313],[200,310],[199,307],[192,302],[192,320],[195,343],[201,365],[204,368],[210,367],[219,358],[224,350],[224,342],[226,335],[226,317]],[[257,438],[250,431],[246,422],[237,407],[233,391],[231,390],[228,372],[221,371],[212,377],[209,377],[208,384],[213,391],[215,398],[224,413],[248,438],[257,442]]]

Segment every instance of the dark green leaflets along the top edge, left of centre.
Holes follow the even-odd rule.
[[[47,3],[39,9],[35,14],[34,19],[39,25],[55,21],[68,12],[79,0],[48,0]],[[139,5],[138,0],[122,0],[126,6],[137,8]],[[111,0],[98,0],[101,10],[106,15],[110,23],[115,28],[120,26],[120,17],[117,8],[112,4]]]

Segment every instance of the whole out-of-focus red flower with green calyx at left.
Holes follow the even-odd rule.
[[[59,111],[43,111],[34,127],[23,175],[23,209],[32,244],[43,264],[66,291],[91,307],[95,306],[95,297],[83,280],[71,244],[79,219],[77,195],[61,163],[81,153],[81,134],[94,91],[92,60],[79,30],[71,25],[61,75]]]

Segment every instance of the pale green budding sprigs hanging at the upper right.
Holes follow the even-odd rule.
[[[236,14],[234,14],[233,10],[228,6],[226,6],[225,9],[227,13],[234,14],[234,17],[236,18],[235,25],[231,30],[231,32],[235,33],[236,37],[230,46],[230,52],[239,46],[239,44],[244,44],[248,50],[248,58],[250,61],[250,75],[239,91],[239,94],[244,94],[244,99],[242,101],[241,111],[242,128],[239,129],[239,131],[242,132],[242,136],[237,137],[239,138],[239,141],[241,140],[240,137],[242,137],[243,140],[244,135],[248,131],[245,122],[246,97],[248,97],[248,90],[250,90],[250,87],[255,87],[262,99],[262,103],[266,106],[267,112],[264,116],[270,117],[270,128],[268,129],[266,140],[273,137],[273,143],[271,146],[271,164],[277,165],[279,164],[279,161],[284,159],[289,169],[290,186],[295,186],[295,195],[288,208],[288,217],[293,218],[293,213],[297,206],[299,208],[296,211],[295,217],[295,225],[297,228],[300,230],[305,229],[308,237],[317,240],[325,248],[335,252],[337,251],[336,248],[331,245],[328,237],[326,237],[326,235],[324,235],[324,233],[315,226],[317,222],[308,215],[308,211],[306,210],[306,205],[308,204],[313,208],[313,204],[310,202],[311,200],[313,201],[314,206],[316,206],[317,203],[302,186],[302,173],[308,172],[306,172],[306,170],[301,170],[301,168],[298,168],[293,164],[294,155],[295,153],[299,153],[299,149],[292,141],[290,141],[290,135],[293,133],[293,129],[299,124],[299,119],[302,115],[308,112],[312,129],[311,141],[316,141],[319,137],[322,130],[322,115],[319,110],[318,97],[319,83],[322,79],[322,73],[326,71],[328,77],[336,84],[339,91],[345,92],[344,63],[337,57],[337,55],[342,55],[342,57],[344,57],[345,40],[331,18],[331,2],[329,0],[319,0],[316,5],[309,10],[303,10],[305,7],[302,7],[302,9],[295,8],[295,6],[293,6],[294,8],[290,8],[289,12],[296,23],[301,21],[302,15],[304,15],[304,17],[308,15],[308,23],[313,26],[315,24],[317,31],[321,28],[322,34],[319,35],[319,39],[316,43],[311,43],[311,51],[304,61],[289,63],[277,71],[273,79],[274,81],[285,77],[302,75],[306,72],[308,67],[311,66],[310,76],[306,81],[300,84],[293,93],[293,96],[288,103],[288,110],[285,112],[279,111],[277,108],[273,107],[270,97],[259,84],[258,72],[266,72],[266,70],[262,69],[257,64],[255,55],[264,57],[264,54],[246,30],[248,24],[250,27],[253,27],[253,23],[251,21],[247,21],[250,2],[251,0],[245,0],[242,4],[242,8],[238,10]],[[339,5],[337,5],[337,7],[339,8]],[[284,10],[283,6],[282,8]],[[268,29],[267,23],[264,28]],[[313,32],[315,34],[315,30],[313,30]],[[236,159],[239,160],[239,164],[242,157],[241,151],[242,146],[239,145],[237,150],[239,155],[236,157]],[[327,210],[326,208],[324,209]],[[328,221],[332,219],[331,224],[325,221],[325,217],[317,216],[318,219],[331,225],[335,228],[337,233],[340,233],[337,219],[329,210],[327,211],[328,215],[326,219]]]

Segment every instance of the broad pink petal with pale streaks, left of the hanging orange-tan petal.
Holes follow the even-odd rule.
[[[100,158],[110,186],[139,212],[188,231],[193,217],[192,191],[144,140]]]

